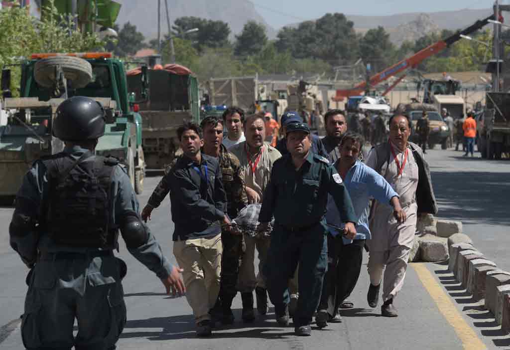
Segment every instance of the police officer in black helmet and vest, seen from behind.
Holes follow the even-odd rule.
[[[113,349],[126,321],[116,258],[120,231],[129,252],[155,272],[167,293],[184,293],[172,266],[138,214],[124,169],[94,155],[105,112],[75,96],[57,109],[53,134],[64,151],[34,162],[16,196],[10,243],[31,270],[21,336],[28,349]],[[78,334],[73,336],[74,319]]]

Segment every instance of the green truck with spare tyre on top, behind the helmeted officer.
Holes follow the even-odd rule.
[[[35,54],[20,66],[17,98],[10,97],[10,70],[2,71],[9,117],[7,125],[0,127],[1,202],[12,204],[34,160],[63,149],[63,143],[52,136],[52,120],[65,98],[78,95],[96,99],[106,110],[106,132],[99,139],[97,154],[117,157],[141,193],[145,171],[142,118],[133,110],[123,62],[110,53]],[[146,76],[145,69],[142,76]]]

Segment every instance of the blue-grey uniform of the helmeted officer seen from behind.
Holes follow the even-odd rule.
[[[53,156],[57,160],[69,157],[80,160],[78,164],[97,159],[78,146],[66,147]],[[111,165],[109,228],[115,232],[120,228],[129,252],[160,279],[166,279],[172,266],[148,228],[140,221],[141,238],[122,230],[127,217],[140,219],[138,201],[125,170]],[[51,195],[48,169],[44,161],[36,161],[17,194],[9,229],[12,248],[31,267],[21,323],[23,344],[28,349],[115,348],[126,321],[121,285],[125,264],[113,254],[118,249],[117,235],[102,248],[57,244],[41,229]],[[79,330],[73,337],[75,318]]]

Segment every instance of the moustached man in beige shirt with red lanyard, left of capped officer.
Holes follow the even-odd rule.
[[[242,179],[245,184],[248,203],[263,203],[264,191],[269,182],[273,163],[282,155],[276,148],[264,143],[266,135],[265,120],[262,114],[252,114],[244,119],[243,129],[246,141],[230,149],[241,164]],[[245,235],[243,260],[239,268],[238,290],[243,301],[242,318],[245,322],[252,322],[255,318],[253,311],[253,290],[257,296],[257,310],[260,315],[267,313],[267,291],[262,266],[266,260],[269,239],[266,237],[251,237]],[[259,274],[256,276],[254,268],[255,250],[259,253]]]

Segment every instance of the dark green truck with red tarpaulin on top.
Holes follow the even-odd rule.
[[[179,151],[177,128],[185,120],[200,121],[198,81],[179,64],[163,69],[148,69],[148,92],[144,103],[137,105],[142,116],[142,146],[147,169],[161,170],[170,165]],[[129,91],[141,98],[141,68],[127,74]]]

